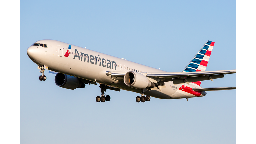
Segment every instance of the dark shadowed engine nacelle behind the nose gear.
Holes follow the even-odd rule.
[[[81,82],[77,77],[57,73],[54,79],[57,86],[66,89],[84,88],[85,84]]]

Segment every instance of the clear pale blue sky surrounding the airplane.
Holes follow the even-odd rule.
[[[167,72],[181,72],[207,40],[207,71],[236,69],[236,1],[21,1],[20,143],[236,143],[236,90],[177,100],[46,81],[26,50],[54,39]],[[15,85],[15,84],[13,84]],[[235,87],[236,74],[202,87]]]

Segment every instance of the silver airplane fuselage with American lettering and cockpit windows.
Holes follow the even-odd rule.
[[[127,86],[123,78],[111,77],[106,72],[134,71],[138,73],[165,71],[142,64],[117,58],[86,48],[74,46],[56,40],[40,40],[36,43],[43,46],[30,46],[27,50],[32,61],[40,66],[47,66],[49,70],[105,84],[111,87],[141,93],[141,89]],[[206,92],[196,92],[192,88],[201,88],[195,83],[176,84],[172,81],[164,82],[161,89],[146,90],[145,94],[161,99],[179,99],[205,96]]]

